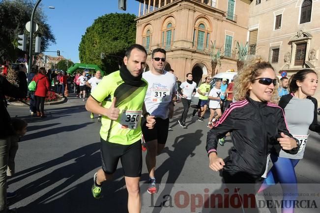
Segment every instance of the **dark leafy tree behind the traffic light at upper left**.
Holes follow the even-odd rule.
[[[24,52],[17,48],[18,35],[27,34],[27,52],[29,52],[29,32],[26,30],[26,23],[30,21],[34,3],[32,0],[1,0],[0,1],[0,62],[4,60],[15,61],[18,57],[24,56]],[[41,36],[41,52],[50,43],[56,43],[56,38],[51,27],[46,23],[46,16],[43,14],[41,4],[36,9],[34,22],[39,29],[34,33]],[[33,41],[33,48],[34,48]]]

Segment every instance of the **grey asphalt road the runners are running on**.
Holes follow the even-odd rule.
[[[18,193],[16,198],[10,199],[10,204],[18,207],[19,213],[127,212],[127,192],[120,163],[114,182],[103,186],[104,198],[95,200],[91,195],[92,176],[101,166],[100,123],[96,118],[89,118],[84,104],[82,99],[70,97],[66,103],[45,106],[48,116],[45,119],[31,117],[26,106],[8,107],[12,117],[23,118],[29,123],[28,133],[19,143],[16,176],[8,181],[8,191]],[[188,128],[182,129],[177,124],[181,112],[182,104],[179,103],[171,121],[173,131],[169,132],[167,148],[157,157],[157,180],[186,188],[222,183],[220,174],[208,169],[204,149],[206,122],[190,117],[186,123]],[[319,139],[319,134],[311,132],[305,158],[296,166],[299,183],[319,186]],[[230,148],[231,143],[219,147],[219,155],[227,156]],[[147,178],[144,162],[141,183]],[[142,193],[146,196],[145,191]]]

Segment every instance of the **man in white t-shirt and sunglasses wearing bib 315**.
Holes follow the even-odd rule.
[[[164,70],[166,51],[161,48],[154,49],[151,58],[150,71],[143,73],[143,78],[148,82],[145,94],[145,108],[148,113],[144,117],[146,118],[149,114],[155,116],[156,123],[152,129],[147,128],[143,123],[142,132],[147,148],[145,157],[149,172],[147,192],[153,194],[157,192],[154,177],[156,155],[162,152],[167,142],[169,119],[174,113],[176,91],[175,75]]]

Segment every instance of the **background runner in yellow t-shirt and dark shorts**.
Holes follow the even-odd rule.
[[[200,103],[200,109],[198,112],[199,119],[198,121],[204,122],[204,113],[206,112],[206,108],[208,106],[208,95],[210,91],[210,77],[205,77],[205,82],[200,85],[198,88],[199,93],[199,100],[201,100]]]

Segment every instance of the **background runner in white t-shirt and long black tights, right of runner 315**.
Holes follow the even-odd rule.
[[[183,112],[181,118],[178,120],[178,123],[180,124],[180,126],[182,126],[182,128],[187,128],[187,126],[185,125],[185,120],[187,119],[189,107],[191,104],[191,97],[192,95],[196,94],[197,87],[196,82],[192,81],[192,73],[188,73],[186,77],[187,81],[183,82],[178,89],[179,94],[182,96],[181,100],[183,105]]]

